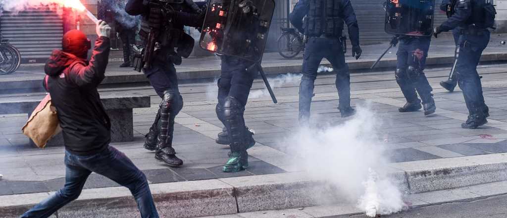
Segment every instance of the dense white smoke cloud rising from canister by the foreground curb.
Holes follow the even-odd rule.
[[[294,165],[313,179],[332,184],[338,198],[356,203],[369,216],[391,214],[406,205],[396,187],[400,183],[387,175],[385,150],[376,132],[379,126],[374,113],[358,107],[357,114],[342,125],[302,127],[285,143],[299,157]]]

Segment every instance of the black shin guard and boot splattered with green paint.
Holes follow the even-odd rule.
[[[237,172],[248,167],[248,133],[243,118],[244,107],[234,97],[227,97],[224,103],[224,118],[231,153],[229,161],[224,166],[224,172]],[[251,135],[250,135],[251,136]]]

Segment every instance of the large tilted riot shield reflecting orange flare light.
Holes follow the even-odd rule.
[[[260,61],[274,9],[274,0],[210,0],[199,45],[219,54]]]

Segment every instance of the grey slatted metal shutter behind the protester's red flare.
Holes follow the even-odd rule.
[[[44,63],[54,49],[61,49],[63,20],[55,11],[44,9],[4,12],[0,31],[19,49],[22,63]]]

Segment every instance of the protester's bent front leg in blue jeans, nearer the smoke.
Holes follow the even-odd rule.
[[[137,202],[141,217],[159,217],[146,176],[125,154],[110,146],[94,158],[78,161],[83,167],[127,187]]]

